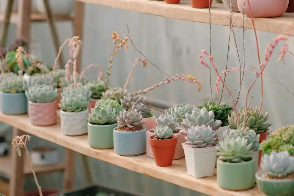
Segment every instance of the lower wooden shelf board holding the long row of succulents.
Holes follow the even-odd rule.
[[[30,124],[28,115],[9,116],[0,112],[0,119],[13,127],[21,129],[29,134],[39,138],[46,139],[50,142],[57,143],[66,148],[72,149],[78,153],[112,163],[119,167],[143,173],[170,183],[177,184],[181,187],[189,188],[209,195],[228,195],[228,196],[264,196],[255,186],[246,191],[227,191],[221,189],[216,182],[216,176],[207,178],[193,178],[186,171],[185,158],[173,161],[170,167],[157,167],[154,159],[148,158],[146,154],[125,157],[114,153],[113,149],[97,150],[90,148],[88,136],[66,136],[60,132],[60,119],[58,123],[50,127],[37,127]],[[31,141],[32,142],[32,141]]]

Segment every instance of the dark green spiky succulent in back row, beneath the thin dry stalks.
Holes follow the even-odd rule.
[[[215,120],[221,120],[221,126],[228,126],[229,124],[229,114],[231,113],[233,107],[229,105],[229,103],[223,102],[214,102],[214,101],[208,101],[208,102],[202,102],[202,105],[199,105],[198,108],[206,108],[207,111],[213,111],[214,113],[214,119]]]

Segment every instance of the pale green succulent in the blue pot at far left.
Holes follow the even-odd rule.
[[[3,93],[22,93],[23,90],[23,77],[13,75],[6,77],[0,83],[0,91]]]

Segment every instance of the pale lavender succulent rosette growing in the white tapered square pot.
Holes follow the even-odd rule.
[[[192,125],[188,128],[186,145],[191,148],[204,148],[212,147],[216,144],[215,131],[210,126],[206,127],[204,124],[201,126]]]

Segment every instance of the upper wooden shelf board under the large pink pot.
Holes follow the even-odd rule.
[[[166,4],[164,1],[154,0],[78,0],[84,3],[93,3],[111,8],[130,10],[139,13],[163,16],[199,23],[209,23],[208,8],[191,8],[189,0],[181,0],[180,4]],[[226,10],[223,3],[213,1],[211,9],[211,24],[230,25],[230,12]],[[243,16],[235,13],[232,17],[235,27],[242,27]],[[294,36],[294,13],[285,13],[278,18],[254,18],[256,30],[279,33]],[[245,28],[252,29],[250,18],[245,22]]]

